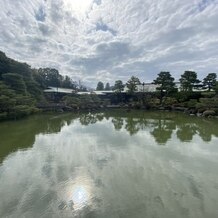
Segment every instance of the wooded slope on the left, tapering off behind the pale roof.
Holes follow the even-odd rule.
[[[37,112],[37,104],[47,101],[43,90],[49,86],[86,90],[57,69],[33,69],[0,51],[0,120]]]

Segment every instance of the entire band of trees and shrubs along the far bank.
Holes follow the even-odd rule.
[[[218,93],[216,73],[209,73],[203,81],[197,78],[197,73],[194,71],[185,71],[181,75],[181,91],[178,96],[175,79],[172,77],[170,72],[160,72],[157,78],[153,81],[157,84],[157,91],[148,99],[143,95],[136,95],[137,86],[145,85],[139,78],[132,76],[126,83],[121,80],[116,80],[113,86],[106,83],[105,86],[103,82],[99,82],[96,90],[114,90],[110,98],[104,96],[78,96],[72,94],[70,96],[61,97],[60,102],[72,108],[93,108],[101,107],[108,104],[122,104],[135,102],[137,105],[140,104],[144,107],[145,103],[147,105],[157,105],[164,102],[187,102],[190,99],[198,101],[199,104],[204,105],[217,105],[217,99],[212,99],[207,101],[206,99],[200,99],[202,97],[193,96],[192,93],[194,88],[199,90],[208,89],[210,93],[211,90],[215,90]],[[78,91],[86,91],[86,87],[73,81],[69,76],[62,76],[57,69],[54,68],[39,68],[33,69],[26,63],[20,63],[13,59],[8,58],[3,52],[0,51],[0,120],[2,119],[16,119],[19,117],[26,116],[31,113],[38,111],[38,105],[40,103],[48,103],[52,99],[46,99],[44,95],[44,89],[47,87],[62,87],[71,88]],[[125,96],[122,95],[124,87],[127,87],[128,92]],[[183,94],[187,93],[187,94]],[[214,92],[212,92],[214,93]],[[171,99],[167,99],[171,97]],[[124,99],[125,98],[125,99]],[[157,101],[158,98],[158,101]],[[194,101],[188,102],[192,104]],[[210,102],[210,103],[208,103]],[[212,103],[211,103],[212,102]],[[215,102],[215,103],[214,103]],[[56,102],[55,102],[56,103]]]

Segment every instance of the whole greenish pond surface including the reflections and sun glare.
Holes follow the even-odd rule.
[[[0,123],[0,217],[218,217],[218,121],[42,114]]]

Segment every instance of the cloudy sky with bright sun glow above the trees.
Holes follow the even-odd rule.
[[[218,69],[218,0],[0,0],[0,50],[82,84]]]

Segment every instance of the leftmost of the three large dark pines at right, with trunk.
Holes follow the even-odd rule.
[[[170,72],[160,72],[158,77],[154,80],[154,84],[159,85],[157,90],[160,91],[161,104],[164,93],[167,95],[176,90],[174,80],[175,79],[171,76]]]

